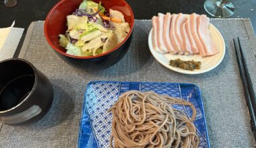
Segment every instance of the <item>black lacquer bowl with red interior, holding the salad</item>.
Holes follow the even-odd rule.
[[[93,0],[99,3],[100,0]],[[66,54],[66,49],[59,45],[59,34],[65,34],[67,30],[67,15],[70,15],[75,9],[79,7],[82,0],[62,0],[59,1],[48,13],[44,22],[44,35],[47,42],[51,47],[59,54],[59,56],[74,65],[82,69],[105,69],[111,65],[114,65],[120,61],[131,44],[133,26],[134,26],[134,15],[129,4],[124,0],[102,0],[102,5],[108,11],[114,9],[121,11],[125,15],[125,21],[129,23],[131,30],[128,36],[119,44],[119,46],[92,57],[77,57],[70,54]]]

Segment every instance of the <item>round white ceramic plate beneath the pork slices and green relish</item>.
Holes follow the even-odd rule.
[[[210,34],[212,36],[212,40],[216,47],[220,52],[210,57],[201,57],[199,54],[192,54],[192,55],[181,55],[181,54],[160,54],[153,49],[152,45],[152,30],[148,36],[148,45],[150,46],[150,51],[154,58],[164,65],[164,67],[171,69],[172,71],[177,71],[178,73],[185,73],[185,74],[199,74],[205,73],[217,67],[224,58],[226,46],[222,34],[220,34],[219,30],[210,24]],[[179,69],[177,67],[172,67],[169,65],[170,60],[181,59],[183,61],[201,61],[201,69],[195,69],[195,71],[187,71],[183,69]]]

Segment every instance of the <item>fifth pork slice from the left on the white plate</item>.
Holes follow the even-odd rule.
[[[177,37],[177,40],[179,42],[179,46],[181,47],[182,53],[185,53],[185,48],[183,46],[183,36],[181,34],[182,24],[184,24],[187,21],[187,17],[183,15],[182,13],[179,13],[177,16],[177,19],[175,20],[175,36]]]

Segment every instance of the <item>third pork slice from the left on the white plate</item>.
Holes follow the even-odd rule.
[[[172,42],[170,42],[170,20],[171,20],[171,18],[172,18],[172,15],[170,15],[170,13],[166,13],[166,15],[164,15],[164,43],[166,44],[168,51],[171,54],[175,54],[177,52],[174,50]]]

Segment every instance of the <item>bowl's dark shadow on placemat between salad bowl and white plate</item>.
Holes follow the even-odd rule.
[[[137,38],[134,32],[131,46],[121,61],[102,71],[88,71],[88,73],[98,77],[122,77],[135,73],[146,65],[151,65],[153,57],[148,47],[148,32],[142,28],[137,28],[137,32],[140,37]]]

